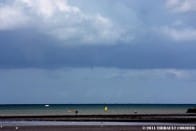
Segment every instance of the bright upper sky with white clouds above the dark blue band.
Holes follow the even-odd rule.
[[[30,28],[70,45],[130,44],[154,29],[169,39],[189,41],[195,40],[194,5],[194,0],[3,1],[0,31]],[[176,21],[180,24],[174,28]]]

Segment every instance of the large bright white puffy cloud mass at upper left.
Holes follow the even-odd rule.
[[[113,44],[126,41],[126,29],[99,13],[82,11],[68,0],[14,0],[0,4],[0,30],[36,28],[62,41]]]

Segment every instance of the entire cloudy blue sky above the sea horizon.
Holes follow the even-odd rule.
[[[195,0],[0,0],[0,104],[195,104],[195,21]]]

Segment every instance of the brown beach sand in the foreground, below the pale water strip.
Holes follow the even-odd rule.
[[[1,125],[1,131],[149,131],[149,130],[180,130],[180,131],[195,131],[196,124],[171,124],[171,123],[67,123],[67,125],[22,125],[18,123],[15,125],[10,123],[8,125]],[[21,124],[21,125],[20,125]],[[115,125],[116,124],[116,125]]]

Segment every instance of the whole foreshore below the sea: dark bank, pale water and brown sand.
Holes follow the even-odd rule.
[[[196,114],[0,116],[0,121],[0,131],[158,131],[161,126],[193,131]]]

